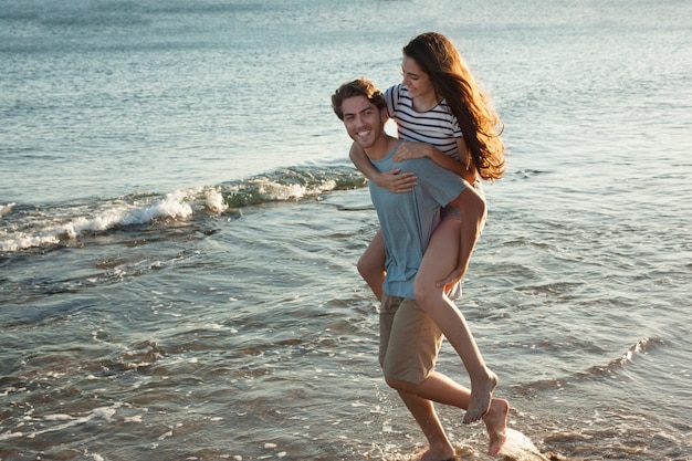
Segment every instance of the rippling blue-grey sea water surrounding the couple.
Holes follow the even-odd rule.
[[[505,125],[457,302],[497,459],[692,460],[689,0],[0,0],[0,460],[420,457],[329,97],[428,31]]]

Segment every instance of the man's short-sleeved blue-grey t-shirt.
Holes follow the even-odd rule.
[[[408,193],[394,193],[370,181],[370,198],[377,210],[387,250],[387,277],[382,289],[392,296],[413,298],[413,280],[430,235],[440,220],[440,209],[466,187],[455,174],[428,158],[394,163],[396,147],[381,160],[373,160],[378,171],[401,168],[416,174],[418,186]]]

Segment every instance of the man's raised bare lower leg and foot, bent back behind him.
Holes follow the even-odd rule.
[[[461,408],[462,410],[469,408],[469,402],[471,401],[471,391],[469,389],[438,371],[432,371],[430,376],[420,384],[395,379],[387,379],[387,384],[397,389],[399,395],[410,394],[423,400],[450,405]],[[434,412],[434,410],[432,411]],[[411,410],[411,412],[413,411]],[[506,441],[508,412],[510,404],[506,400],[493,398],[490,404],[490,409],[482,418],[490,438],[487,452],[491,455],[497,454]]]

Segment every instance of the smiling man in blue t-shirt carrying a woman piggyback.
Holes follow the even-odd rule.
[[[392,154],[401,142],[385,133],[385,99],[373,83],[358,78],[342,85],[332,107],[348,135],[380,171],[395,168]],[[434,411],[433,401],[466,409],[471,391],[434,370],[442,334],[418,306],[413,282],[440,209],[459,209],[468,240],[459,245],[459,262],[468,268],[485,212],[483,199],[457,175],[426,158],[397,164],[412,171],[418,186],[409,193],[390,193],[370,182],[370,197],[380,221],[387,252],[382,285],[379,360],[387,384],[396,389],[428,439],[421,461],[444,461],[454,448]],[[470,336],[470,334],[469,334]],[[472,337],[471,337],[472,342]],[[474,343],[470,343],[475,347]],[[506,400],[492,398],[483,421],[490,436],[489,453],[495,455],[506,440]]]

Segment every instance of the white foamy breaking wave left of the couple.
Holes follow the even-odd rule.
[[[353,168],[287,168],[216,186],[179,189],[161,195],[81,203],[0,203],[0,252],[9,253],[73,242],[83,235],[130,226],[172,224],[269,202],[319,199],[332,190],[365,186]]]

